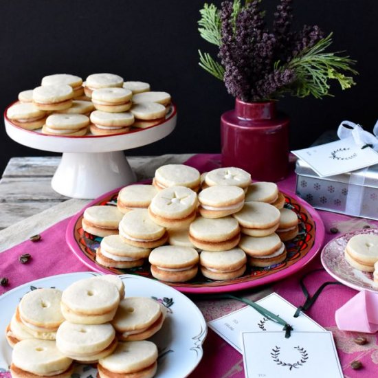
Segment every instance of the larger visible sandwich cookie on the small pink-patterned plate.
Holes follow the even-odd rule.
[[[357,270],[375,271],[378,261],[378,235],[359,234],[349,239],[344,256],[346,261]]]

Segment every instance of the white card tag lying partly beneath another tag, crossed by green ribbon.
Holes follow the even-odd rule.
[[[256,301],[256,303],[280,316],[280,318],[293,326],[295,331],[325,331],[322,326],[304,313],[300,313],[298,318],[294,318],[296,307],[277,293],[271,293],[269,296]],[[282,331],[281,324],[268,320],[250,306],[211,320],[208,322],[208,326],[240,353],[242,353],[242,332],[258,331],[266,333],[268,331]]]

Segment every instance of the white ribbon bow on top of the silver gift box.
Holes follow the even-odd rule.
[[[375,122],[373,134],[362,129],[362,126],[359,126],[359,124],[343,121],[337,129],[337,136],[340,139],[353,137],[357,146],[362,148],[368,145],[373,150],[378,151],[378,120]]]

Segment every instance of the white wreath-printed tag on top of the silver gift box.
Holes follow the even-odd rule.
[[[378,164],[378,153],[373,148],[357,146],[353,137],[291,152],[309,164],[320,177]]]

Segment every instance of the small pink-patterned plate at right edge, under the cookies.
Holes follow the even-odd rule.
[[[358,234],[378,235],[378,229],[366,228],[337,236],[337,238],[332,239],[324,246],[320,254],[320,260],[324,269],[326,269],[335,280],[358,291],[368,290],[377,293],[378,284],[376,286],[374,285],[373,273],[359,271],[353,268],[344,258],[346,243],[348,243],[348,240],[352,236]]]

